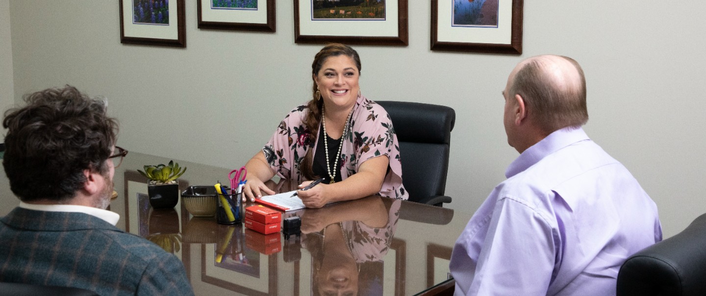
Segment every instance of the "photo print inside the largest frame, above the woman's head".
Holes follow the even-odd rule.
[[[311,0],[314,20],[385,19],[385,0]]]

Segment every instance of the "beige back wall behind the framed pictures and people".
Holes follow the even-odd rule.
[[[195,1],[186,2],[188,47],[176,49],[121,45],[117,1],[10,1],[14,93],[76,85],[109,97],[128,150],[244,165],[310,96],[321,45],[294,44],[292,1],[277,1],[275,33],[199,30]],[[474,211],[517,156],[501,123],[508,73],[537,54],[573,57],[587,76],[587,133],[640,180],[670,236],[706,212],[706,117],[695,90],[706,77],[705,10],[703,1],[669,10],[656,1],[525,1],[517,57],[431,52],[429,2],[410,0],[408,47],[355,47],[361,88],[373,100],[456,110],[447,194],[451,208]]]

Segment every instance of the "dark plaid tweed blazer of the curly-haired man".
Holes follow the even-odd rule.
[[[177,256],[100,218],[15,208],[0,222],[0,282],[193,295]]]

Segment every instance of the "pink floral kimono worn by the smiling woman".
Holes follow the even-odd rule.
[[[289,112],[263,148],[270,168],[280,177],[297,182],[305,181],[299,165],[306,155],[306,150],[311,148],[316,151],[318,144],[309,143],[310,131],[304,126],[306,112],[309,112],[306,105]],[[322,132],[319,127],[318,133]],[[342,167],[345,166],[345,170],[340,170],[341,179],[346,179],[358,172],[360,164],[364,161],[387,155],[390,166],[385,175],[383,187],[380,189],[380,195],[393,199],[408,198],[405,187],[402,187],[400,144],[397,143],[390,116],[383,107],[359,96],[353,106],[350,130],[341,145],[339,163]]]

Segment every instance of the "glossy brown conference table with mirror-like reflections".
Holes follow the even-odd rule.
[[[176,161],[188,167],[179,180],[180,191],[227,182],[230,168]],[[141,153],[126,156],[115,173],[119,196],[110,210],[121,215],[118,227],[181,258],[196,295],[414,295],[447,279],[451,249],[472,214],[370,196],[287,212],[285,218],[301,217],[306,233],[289,239],[282,232],[265,237],[241,224],[193,217],[181,202],[174,209],[152,209],[147,180],[137,170],[167,162]],[[280,191],[296,186],[287,180],[270,185]],[[391,238],[371,238],[374,232],[340,235],[343,227],[370,230],[365,223],[388,231]],[[357,259],[351,263],[350,257]]]

